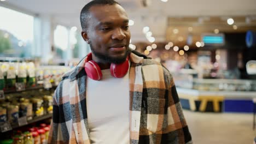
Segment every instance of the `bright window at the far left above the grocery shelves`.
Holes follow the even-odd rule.
[[[0,56],[31,57],[34,17],[0,7]]]

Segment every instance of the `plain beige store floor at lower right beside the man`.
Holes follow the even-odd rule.
[[[252,144],[252,113],[202,113],[184,110],[195,144]]]

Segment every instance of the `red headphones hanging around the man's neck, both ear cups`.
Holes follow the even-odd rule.
[[[98,64],[92,61],[92,54],[89,53],[88,56],[85,58],[85,66],[84,66],[86,74],[92,80],[101,80],[102,73],[101,68]],[[129,69],[129,57],[126,58],[126,61],[120,64],[111,63],[110,65],[110,73],[113,77],[121,78],[125,76]]]

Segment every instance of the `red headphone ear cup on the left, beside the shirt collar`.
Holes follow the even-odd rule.
[[[92,80],[101,80],[102,73],[101,68],[94,61],[89,61],[85,63],[84,66],[85,72],[87,76],[89,76]]]

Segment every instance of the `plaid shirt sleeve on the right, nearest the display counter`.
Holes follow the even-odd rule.
[[[173,77],[166,68],[163,71],[167,86],[167,128],[162,131],[161,143],[192,143]]]

